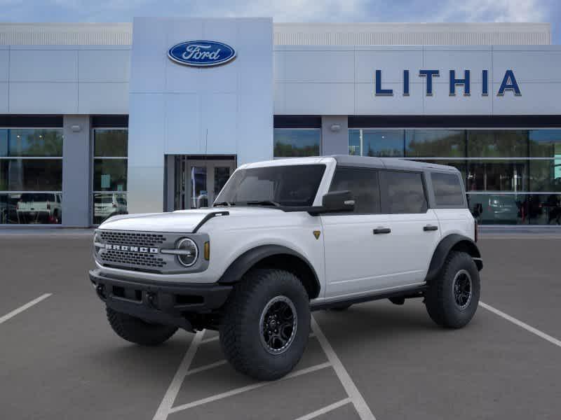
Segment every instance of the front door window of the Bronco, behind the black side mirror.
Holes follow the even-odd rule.
[[[378,173],[373,169],[337,168],[330,191],[351,191],[355,213],[379,213]]]

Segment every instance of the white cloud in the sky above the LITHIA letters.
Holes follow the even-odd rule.
[[[439,18],[445,22],[543,22],[546,15],[539,0],[452,0]]]

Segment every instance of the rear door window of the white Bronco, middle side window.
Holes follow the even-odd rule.
[[[384,212],[390,214],[426,213],[428,204],[422,174],[381,171],[380,186]]]

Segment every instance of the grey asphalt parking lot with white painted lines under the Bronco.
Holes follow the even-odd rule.
[[[0,231],[2,419],[560,419],[561,235],[491,233],[462,330],[421,300],[313,314],[290,377],[257,383],[215,332],[114,335],[87,279],[89,232]]]

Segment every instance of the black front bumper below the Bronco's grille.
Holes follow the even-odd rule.
[[[226,302],[232,286],[218,283],[162,283],[123,279],[90,270],[90,281],[105,304],[115,311],[146,321],[192,331],[187,314],[209,314]]]

